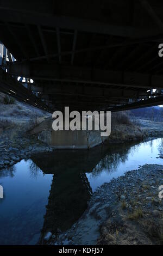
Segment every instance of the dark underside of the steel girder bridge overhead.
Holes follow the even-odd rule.
[[[162,105],[161,0],[0,1],[0,90],[53,112]]]

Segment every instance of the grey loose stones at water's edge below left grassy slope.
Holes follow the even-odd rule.
[[[26,126],[14,124],[0,134],[0,170],[34,154],[53,150],[53,147],[40,142],[36,136],[31,136]]]

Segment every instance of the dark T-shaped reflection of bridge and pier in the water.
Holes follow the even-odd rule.
[[[42,228],[56,233],[75,223],[87,207],[92,188],[88,173],[98,175],[103,169],[115,172],[117,165],[127,160],[131,144],[102,146],[91,150],[57,150],[55,153],[32,157],[32,173],[40,168],[45,174],[54,174]]]

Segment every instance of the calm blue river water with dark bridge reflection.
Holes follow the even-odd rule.
[[[87,150],[56,150],[0,171],[0,245],[34,245],[80,218],[91,193],[140,165],[163,164],[162,138]]]

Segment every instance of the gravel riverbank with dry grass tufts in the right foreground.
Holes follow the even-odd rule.
[[[93,193],[84,215],[65,233],[48,233],[48,245],[162,245],[163,166],[146,164]],[[163,194],[163,193],[162,193]],[[50,231],[50,230],[49,230]]]

